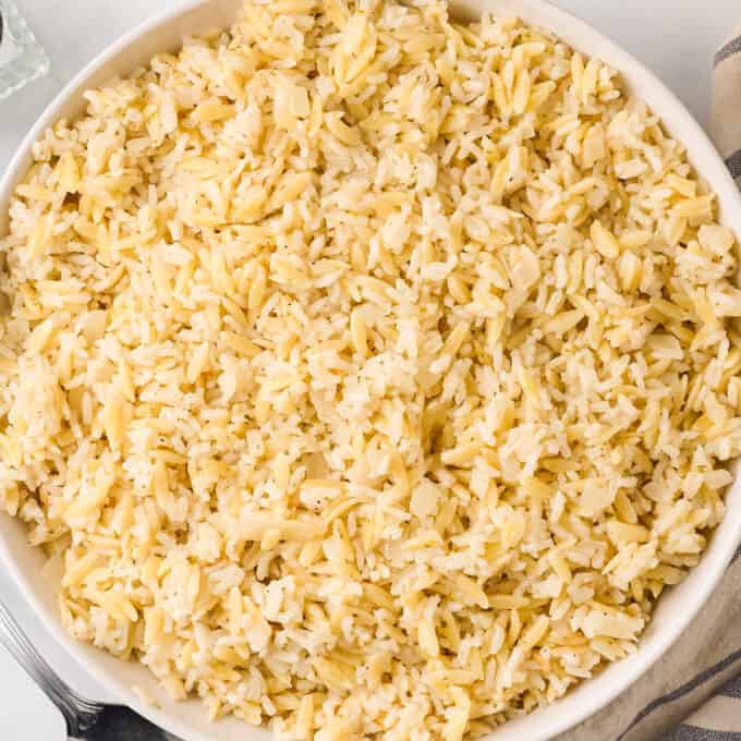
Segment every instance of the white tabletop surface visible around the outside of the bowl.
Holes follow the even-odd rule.
[[[106,45],[174,0],[15,0],[51,57],[51,75],[0,104],[0,169],[53,94]],[[713,53],[741,24],[739,0],[558,0],[658,74],[707,123]],[[45,633],[0,571],[0,594],[50,663],[78,690],[99,697]],[[62,741],[61,716],[0,649],[0,739]]]

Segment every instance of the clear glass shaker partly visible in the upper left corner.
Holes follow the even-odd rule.
[[[0,0],[0,100],[49,71],[49,58],[15,5]]]

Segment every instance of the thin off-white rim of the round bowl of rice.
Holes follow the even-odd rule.
[[[599,44],[600,49],[605,50],[605,57],[609,58],[610,66],[616,68],[622,74],[627,74],[628,71],[630,71],[632,76],[640,77],[645,86],[652,88],[656,99],[660,98],[656,104],[647,101],[649,108],[664,123],[666,123],[666,119],[670,118],[671,123],[676,124],[676,126],[681,125],[687,131],[680,141],[685,147],[693,167],[695,167],[695,163],[699,160],[702,160],[703,167],[696,169],[701,171],[703,177],[705,177],[708,170],[713,170],[713,190],[716,194],[724,196],[727,201],[724,206],[724,212],[727,214],[727,217],[724,221],[730,222],[736,233],[741,235],[741,195],[722,162],[720,155],[712,144],[707,133],[680,101],[678,96],[642,62],[586,21],[569,11],[551,4],[548,0],[473,1],[476,4],[481,4],[487,11],[496,14],[522,15],[525,22],[533,23],[533,25],[550,31],[559,38],[564,39],[569,46],[576,50],[581,50],[581,45],[578,40],[579,38],[591,39],[592,45]],[[463,2],[465,2],[465,0],[463,0]],[[184,16],[198,8],[207,8],[210,4],[215,4],[215,0],[177,0],[173,5],[151,14],[139,24],[119,36],[112,44],[107,46],[86,63],[45,107],[44,112],[23,137],[14,156],[0,178],[0,211],[7,210],[5,204],[9,202],[15,184],[27,167],[33,144],[49,125],[53,124],[60,118],[60,113],[65,106],[81,97],[85,86],[96,73],[100,72],[108,62],[113,60],[122,51],[126,50],[129,47],[133,47],[142,37],[156,32],[158,28],[168,26],[181,16]],[[451,0],[450,4],[454,11],[455,5],[460,4],[460,0],[459,3],[457,3],[455,0]],[[536,15],[542,20],[533,22],[527,17],[527,15],[531,14]],[[568,35],[564,32],[567,28],[569,31]],[[133,68],[131,69],[133,70]],[[113,76],[113,74],[111,74],[111,76]],[[669,127],[671,130],[671,126]],[[689,138],[692,139],[691,144],[688,144]],[[2,230],[2,219],[4,216],[3,212],[0,212],[0,230]],[[741,483],[740,477],[741,472],[737,471],[734,475],[734,485]],[[3,519],[9,518],[9,515],[4,513],[2,517]],[[727,511],[726,518],[729,517],[731,517],[731,513]],[[720,525],[718,527],[720,527]],[[701,563],[704,563],[705,561],[709,561],[709,563],[706,563],[705,579],[693,593],[694,597],[692,604],[681,612],[672,627],[666,630],[659,639],[653,641],[649,645],[644,645],[642,642],[639,643],[634,656],[641,655],[642,660],[627,668],[625,671],[614,679],[611,684],[608,688],[603,689],[602,692],[592,693],[593,696],[590,701],[583,701],[579,706],[560,714],[556,719],[551,719],[551,722],[547,724],[547,728],[543,728],[540,732],[534,732],[533,729],[529,729],[529,741],[547,741],[583,722],[588,717],[606,707],[640,677],[645,675],[645,672],[676,643],[702,607],[708,602],[710,594],[722,578],[728,563],[741,543],[741,520],[736,523],[733,527],[734,530],[732,527],[726,527],[724,537],[720,538],[719,543],[717,542],[718,538],[714,537],[713,542],[703,554]],[[5,537],[1,534],[0,562],[4,566],[19,587],[26,604],[36,616],[49,618],[48,620],[42,620],[42,622],[53,636],[54,641],[65,649],[66,654],[69,654],[80,667],[84,668],[101,685],[106,694],[116,697],[120,703],[132,707],[161,728],[171,733],[175,733],[186,741],[212,741],[212,738],[192,728],[173,713],[160,710],[146,703],[133,690],[130,690],[127,693],[122,692],[121,685],[112,680],[108,671],[88,660],[83,652],[83,645],[66,633],[59,620],[59,616],[53,615],[48,606],[42,603],[32,585],[31,580],[23,573],[16,558],[11,552],[11,548],[7,543]],[[690,573],[699,569],[700,566],[701,564],[694,567]],[[618,665],[619,663],[614,666]],[[586,682],[580,683],[580,685],[591,683],[592,681],[594,680],[586,680]],[[567,693],[566,697],[568,696],[569,693]],[[564,699],[556,701],[551,706],[557,706]],[[499,740],[501,730],[508,730],[508,727],[512,724],[519,726],[523,720],[534,717],[538,712],[542,712],[542,709],[545,708],[538,708],[523,719],[508,721],[503,726],[498,727],[495,730],[495,740]],[[252,727],[247,727],[247,729],[252,730]],[[511,739],[522,738],[520,734],[515,737],[514,733],[505,733],[503,736],[507,738],[502,739],[502,741],[509,741],[510,737]]]

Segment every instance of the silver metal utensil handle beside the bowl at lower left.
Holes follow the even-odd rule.
[[[59,708],[64,716],[70,738],[81,737],[95,725],[102,705],[81,697],[57,675],[36,651],[2,602],[0,602],[0,643]]]

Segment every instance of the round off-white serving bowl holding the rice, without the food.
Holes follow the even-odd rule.
[[[143,23],[92,61],[47,108],[0,181],[0,235],[7,233],[9,201],[31,163],[32,144],[58,119],[82,112],[83,90],[113,75],[130,73],[157,52],[177,49],[184,36],[228,26],[240,5],[241,0],[187,0]],[[453,2],[453,8],[462,17],[477,17],[485,10],[519,15],[619,70],[630,89],[646,100],[669,132],[684,143],[692,165],[718,195],[721,221],[741,234],[741,197],[715,147],[675,95],[630,54],[584,22],[543,0],[459,0]],[[661,597],[636,653],[609,666],[549,707],[499,727],[490,734],[490,741],[545,741],[558,736],[607,705],[669,648],[708,599],[741,540],[741,520],[734,517],[741,509],[738,477],[727,494],[727,503],[728,517],[713,534],[700,564],[684,582]],[[4,514],[0,517],[0,557],[56,640],[100,683],[101,696],[116,697],[185,741],[267,741],[270,738],[266,731],[233,718],[209,724],[199,701],[172,702],[143,666],[74,642],[58,617],[57,585],[50,576],[42,575],[42,554],[26,543],[24,526]],[[143,703],[134,685],[154,695],[160,708]]]

